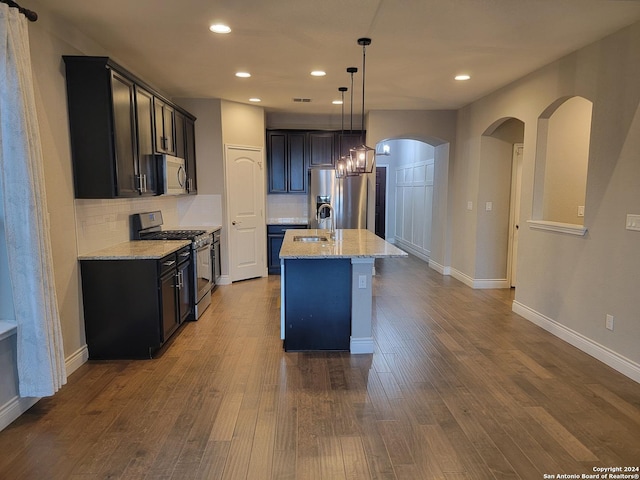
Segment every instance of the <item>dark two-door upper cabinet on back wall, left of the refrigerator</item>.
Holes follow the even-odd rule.
[[[267,131],[269,193],[307,193],[307,135],[304,131]]]

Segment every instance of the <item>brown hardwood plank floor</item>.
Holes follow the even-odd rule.
[[[0,432],[0,478],[542,479],[640,466],[640,384],[415,259],[373,355],[285,353],[280,277],[220,287],[150,361],[89,362]],[[547,477],[550,478],[550,477]]]

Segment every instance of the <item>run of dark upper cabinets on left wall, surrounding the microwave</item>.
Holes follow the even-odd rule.
[[[76,198],[160,194],[157,155],[177,154],[178,113],[184,120],[180,141],[195,145],[195,117],[108,57],[63,59]],[[195,147],[190,158],[183,149],[195,192]]]

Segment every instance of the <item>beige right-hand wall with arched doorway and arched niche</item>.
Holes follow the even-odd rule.
[[[477,225],[464,206],[478,193],[480,138],[500,118],[522,120],[523,228],[515,306],[553,325],[557,334],[583,342],[585,349],[602,352],[598,349],[604,347],[635,362],[636,370],[640,316],[634,300],[640,236],[625,230],[625,216],[640,212],[638,55],[640,24],[635,24],[463,108],[450,184],[454,189],[452,263],[474,277],[475,260],[485,245],[475,244]],[[573,95],[594,105],[584,237],[534,230],[526,224],[532,218],[538,117],[556,100]],[[605,329],[606,314],[615,316],[613,332]]]

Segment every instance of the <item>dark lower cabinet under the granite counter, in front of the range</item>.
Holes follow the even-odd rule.
[[[151,358],[191,317],[190,248],[160,260],[81,260],[90,359]]]

